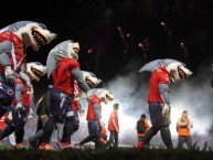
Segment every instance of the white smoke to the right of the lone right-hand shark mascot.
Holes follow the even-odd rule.
[[[192,135],[207,136],[212,129],[212,95],[209,72],[211,64],[199,67],[198,75],[192,75],[182,84],[171,88],[171,106],[174,128],[177,116],[181,116],[182,110],[189,111],[189,118],[193,121]],[[172,84],[173,85],[173,84]]]

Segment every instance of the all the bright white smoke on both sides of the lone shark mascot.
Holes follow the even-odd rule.
[[[142,65],[141,65],[142,66]],[[207,136],[212,127],[212,95],[209,72],[211,64],[199,67],[198,74],[184,79],[180,84],[171,83],[171,135],[178,138],[175,129],[177,120],[183,110],[189,111],[189,118],[193,122],[191,134]],[[117,75],[105,84],[105,88],[115,94],[116,99],[103,107],[103,117],[107,119],[114,103],[119,104],[119,138],[124,143],[135,143],[137,140],[136,122],[141,114],[148,114],[148,82],[150,75],[138,73],[136,62],[128,65],[129,73]],[[131,70],[130,70],[131,68]],[[128,139],[128,140],[127,140]]]

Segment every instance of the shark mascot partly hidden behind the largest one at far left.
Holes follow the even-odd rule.
[[[26,63],[26,75],[30,82],[39,82],[46,73],[46,67],[39,62]],[[28,92],[28,85],[24,79],[17,76],[15,98],[9,106],[12,113],[12,122],[6,127],[0,141],[15,131],[15,146],[23,147],[24,125],[28,120],[29,111],[33,105],[33,94]]]

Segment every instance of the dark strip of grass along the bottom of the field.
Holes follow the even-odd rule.
[[[32,150],[0,148],[0,160],[213,160],[212,150],[110,148],[107,150]]]

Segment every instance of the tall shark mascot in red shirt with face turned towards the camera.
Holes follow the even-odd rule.
[[[53,79],[53,90],[51,94],[51,107],[49,120],[44,125],[44,136],[40,148],[52,149],[50,139],[57,121],[64,120],[63,131],[66,139],[71,138],[71,130],[66,128],[72,122],[74,116],[71,107],[71,98],[74,94],[74,81],[77,81],[83,92],[90,88],[83,78],[79,70],[78,58],[79,44],[72,40],[57,44],[46,60],[47,77]],[[70,141],[71,142],[71,141]]]

